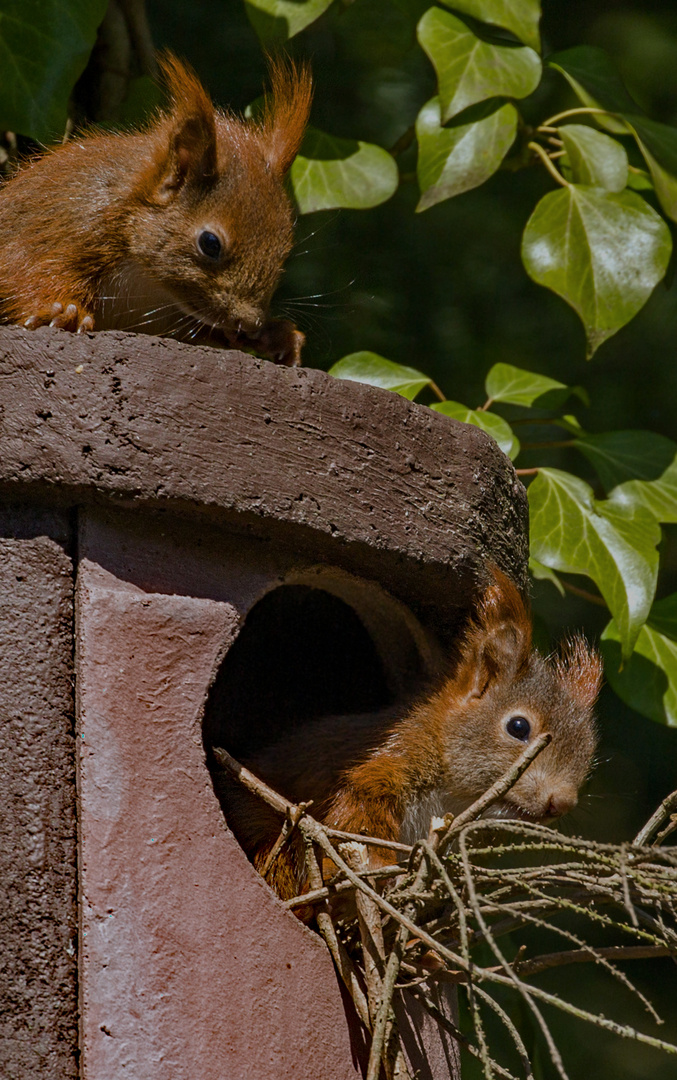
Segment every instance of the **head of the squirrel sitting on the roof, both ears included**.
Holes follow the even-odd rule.
[[[256,338],[292,247],[284,178],[308,121],[310,73],[271,62],[261,118],[247,120],[216,109],[176,57],[161,67],[171,108],[149,130],[127,249],[187,315]]]

